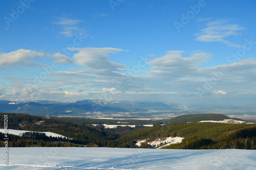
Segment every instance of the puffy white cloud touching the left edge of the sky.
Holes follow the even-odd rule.
[[[13,51],[6,54],[0,54],[0,65],[13,65],[13,64],[23,64],[26,66],[36,66],[40,65],[38,63],[35,63],[31,60],[28,60],[29,58],[41,58],[44,57],[45,53],[35,52],[31,50],[25,50],[23,48]]]

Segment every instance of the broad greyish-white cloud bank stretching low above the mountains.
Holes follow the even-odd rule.
[[[256,61],[253,58],[214,67],[201,67],[200,64],[206,62],[210,54],[200,51],[194,51],[191,54],[183,51],[169,51],[161,57],[152,56],[152,60],[147,62],[148,66],[152,66],[152,70],[147,72],[141,70],[147,75],[138,76],[118,73],[120,69],[126,67],[111,61],[109,55],[122,52],[123,50],[119,48],[73,48],[72,50],[78,51],[73,56],[73,63],[83,65],[85,68],[70,68],[71,70],[68,71],[53,70],[44,83],[32,87],[26,86],[33,84],[33,76],[5,77],[3,80],[10,83],[6,84],[8,89],[5,91],[0,89],[0,98],[2,96],[4,100],[15,98],[70,102],[96,99],[99,96],[104,98],[102,94],[111,93],[113,100],[158,100],[183,104],[189,101],[204,103],[206,100],[231,103],[234,96],[243,95],[243,99],[246,99],[245,96],[251,94],[251,100],[256,95],[255,89],[252,88],[256,84]],[[61,54],[50,56],[54,56],[56,61],[60,59],[58,61],[60,63],[69,63],[71,60]],[[25,57],[25,60],[28,59]],[[221,75],[221,78],[212,84],[210,90],[201,99],[196,94],[197,88],[204,88],[205,82],[209,82],[216,72],[222,70],[223,66],[228,68],[228,72]],[[228,92],[225,89],[228,89]]]

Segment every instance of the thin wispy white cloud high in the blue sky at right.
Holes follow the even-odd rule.
[[[209,20],[209,18],[202,18],[198,21]],[[218,19],[209,21],[206,23],[205,28],[200,30],[199,33],[195,34],[196,40],[202,42],[214,42],[219,41],[227,44],[228,46],[241,47],[239,44],[234,44],[226,40],[229,36],[238,35],[238,31],[244,30],[245,28],[229,23],[228,19]]]

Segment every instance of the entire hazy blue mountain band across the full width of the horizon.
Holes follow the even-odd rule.
[[[133,102],[110,100],[82,100],[74,103],[38,100],[0,101],[0,112],[26,113],[31,115],[49,116],[81,116],[95,113],[140,113],[140,116],[154,115],[152,113],[232,113],[255,115],[255,106],[226,106],[210,104],[183,105],[173,102]],[[142,113],[142,114],[141,114]],[[144,114],[146,113],[146,114]],[[150,114],[148,114],[150,113]],[[155,115],[157,115],[155,114]],[[132,115],[132,114],[131,114]],[[122,115],[123,116],[123,115]]]

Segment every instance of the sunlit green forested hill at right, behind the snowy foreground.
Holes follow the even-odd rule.
[[[151,142],[170,136],[184,137],[181,143],[166,147],[170,149],[256,149],[256,124],[173,123],[135,130],[117,141]]]

